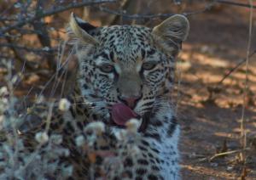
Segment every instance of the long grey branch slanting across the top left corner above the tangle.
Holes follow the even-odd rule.
[[[71,9],[71,8],[79,8],[79,7],[83,7],[83,6],[92,6],[92,5],[101,4],[101,3],[115,3],[115,2],[116,2],[116,0],[91,0],[91,1],[81,2],[81,3],[70,3],[69,5],[64,6],[64,7],[52,8],[46,12],[43,12],[42,14],[37,14],[37,15],[33,16],[32,18],[28,18],[26,20],[17,22],[17,23],[15,23],[15,25],[9,25],[7,27],[3,27],[0,30],[0,37],[3,36],[3,34],[5,32],[11,31],[17,27],[21,27],[23,25],[32,23],[34,20],[38,20],[38,19],[44,18],[49,15],[58,14],[58,13],[61,13],[63,11]]]

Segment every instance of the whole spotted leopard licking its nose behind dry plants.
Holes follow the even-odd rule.
[[[98,27],[71,14],[67,34],[79,62],[73,92],[66,97],[70,106],[60,110],[54,105],[49,124],[46,113],[41,115],[36,127],[20,127],[29,150],[34,150],[32,137],[48,127],[49,134],[63,135],[61,145],[69,149],[70,155],[61,160],[73,165],[70,180],[180,179],[180,127],[172,104],[172,89],[177,54],[188,37],[189,20],[182,14],[174,14],[154,28]],[[37,113],[28,113],[26,119],[40,116],[47,107],[37,107]],[[129,121],[123,120],[125,115],[137,123],[136,138],[131,140],[136,147],[134,151],[129,143],[122,145],[115,135],[128,127]],[[100,138],[95,140],[90,152],[112,151],[119,157],[119,164],[114,168],[113,163],[104,163],[101,155],[92,158],[76,145],[79,132],[96,122],[100,126],[92,129],[103,127],[96,134]],[[83,136],[88,138],[94,132],[97,131]],[[99,139],[103,139],[103,145],[97,144]],[[111,155],[109,159],[111,162]],[[93,163],[96,166],[91,177]],[[104,166],[103,175],[100,166]]]

